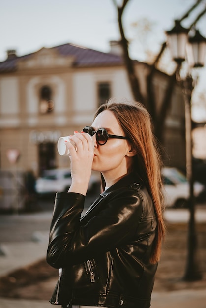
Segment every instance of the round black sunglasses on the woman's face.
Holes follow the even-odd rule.
[[[128,139],[125,136],[109,135],[105,128],[99,128],[97,131],[95,131],[92,127],[85,126],[83,131],[84,133],[88,133],[90,136],[96,134],[96,141],[100,146],[103,146],[107,142],[108,138]]]

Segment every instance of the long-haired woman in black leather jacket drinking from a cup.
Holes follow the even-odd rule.
[[[149,114],[140,103],[113,99],[70,138],[72,185],[56,195],[47,252],[60,268],[50,302],[148,308],[164,236]],[[103,192],[81,218],[91,170],[101,172]]]

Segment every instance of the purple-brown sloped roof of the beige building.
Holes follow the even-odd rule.
[[[94,49],[77,46],[71,43],[55,46],[49,49],[58,51],[59,55],[75,56],[74,66],[104,66],[104,65],[120,65],[122,64],[122,57],[113,53],[104,53]],[[19,60],[26,59],[34,55],[34,53],[24,55],[8,57],[3,62],[0,62],[0,72],[12,72],[17,69]]]

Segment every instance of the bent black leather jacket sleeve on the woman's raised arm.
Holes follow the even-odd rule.
[[[105,202],[86,224],[80,222],[83,207],[83,195],[57,193],[47,250],[51,266],[78,264],[125,244],[143,215],[142,199],[131,190],[123,190]]]

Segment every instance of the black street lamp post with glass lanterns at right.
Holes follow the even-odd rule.
[[[193,177],[193,155],[192,155],[192,117],[191,97],[194,89],[193,78],[187,74],[186,78],[180,77],[181,63],[187,58],[190,67],[203,67],[205,60],[206,39],[199,31],[193,37],[188,37],[189,29],[175,21],[175,27],[167,31],[168,47],[173,60],[178,63],[176,74],[177,82],[181,85],[185,104],[185,141],[186,141],[186,173],[189,182],[189,226],[188,226],[188,253],[187,264],[183,279],[186,281],[200,280],[202,273],[199,269],[197,259],[197,234],[195,227],[195,201],[194,201],[194,177]],[[186,53],[187,50],[187,53]],[[186,57],[187,54],[187,57]]]

